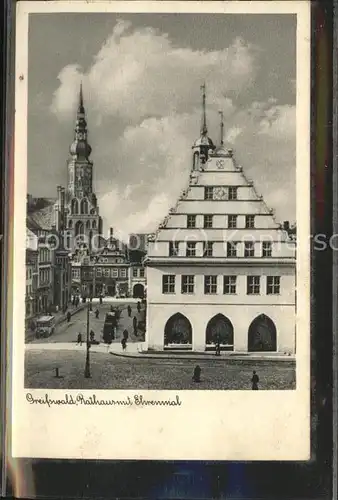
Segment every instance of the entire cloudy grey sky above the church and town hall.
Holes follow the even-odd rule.
[[[295,221],[296,16],[31,14],[28,192],[66,185],[80,81],[104,227],[151,232],[186,187],[207,87],[225,142],[278,221]]]

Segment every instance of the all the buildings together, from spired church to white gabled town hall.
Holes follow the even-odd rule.
[[[229,351],[295,353],[295,228],[275,220],[224,145],[223,116],[219,144],[209,137],[205,86],[202,110],[189,181],[176,205],[142,244],[123,243],[113,229],[102,236],[80,89],[67,188],[59,187],[47,207],[28,210],[28,229],[41,238],[37,257],[27,249],[33,314],[64,307],[72,293],[146,293],[148,349],[204,351],[219,343]],[[44,246],[47,232],[60,237],[55,250]]]

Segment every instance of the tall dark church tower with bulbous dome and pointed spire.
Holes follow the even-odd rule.
[[[97,198],[93,191],[93,162],[90,160],[92,148],[88,143],[86,112],[83,102],[82,84],[79,104],[68,160],[67,221],[68,234],[73,237],[102,233],[102,219],[99,216]]]

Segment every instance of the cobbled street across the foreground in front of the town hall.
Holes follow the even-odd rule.
[[[38,347],[37,347],[38,349]],[[84,378],[85,350],[29,350],[25,353],[25,387],[43,389],[153,389],[251,390],[257,370],[259,389],[296,388],[295,363],[289,361],[198,361],[201,383],[192,375],[196,360],[132,359],[109,353],[91,353],[91,378]],[[59,369],[59,378],[55,369]]]

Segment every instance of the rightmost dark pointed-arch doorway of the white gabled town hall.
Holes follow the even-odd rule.
[[[276,351],[277,330],[274,322],[265,314],[260,314],[249,326],[248,351]]]

